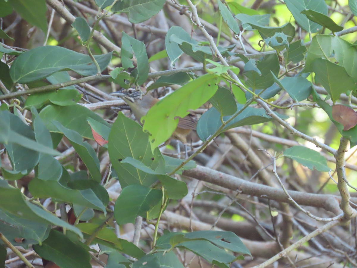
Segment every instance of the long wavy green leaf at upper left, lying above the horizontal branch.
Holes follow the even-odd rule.
[[[111,56],[112,52],[94,56],[101,71],[109,64]],[[97,73],[89,55],[61,46],[40,46],[19,55],[11,65],[10,76],[15,83],[26,84],[46,78],[57,71],[69,70],[83,76]]]

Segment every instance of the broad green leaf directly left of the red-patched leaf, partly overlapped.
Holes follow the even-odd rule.
[[[110,124],[99,115],[79,104],[69,106],[47,105],[41,110],[40,117],[46,128],[51,132],[59,133],[56,126],[52,124],[52,121],[56,120],[65,128],[72,129],[87,139],[93,139],[92,130],[87,123],[88,117],[110,127]]]

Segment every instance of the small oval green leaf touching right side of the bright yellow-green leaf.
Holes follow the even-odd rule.
[[[231,91],[218,87],[216,94],[210,99],[210,103],[222,116],[232,115],[237,111],[236,101]]]

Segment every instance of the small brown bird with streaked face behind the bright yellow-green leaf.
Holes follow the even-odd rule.
[[[121,97],[127,105],[129,105],[135,119],[139,121],[142,116],[146,115],[147,111],[159,101],[159,99],[151,96],[150,93],[142,95],[139,90],[136,89],[121,89],[119,91],[113,92],[110,95]],[[183,144],[187,143],[186,136],[191,132],[192,129],[196,129],[197,120],[194,114],[188,114],[184,118],[178,120],[177,128],[172,134],[171,138],[180,140]],[[165,143],[166,144],[166,143]]]

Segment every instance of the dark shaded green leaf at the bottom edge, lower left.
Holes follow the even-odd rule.
[[[86,249],[53,229],[42,245],[33,245],[33,248],[42,258],[51,260],[60,267],[92,267],[91,257]]]

